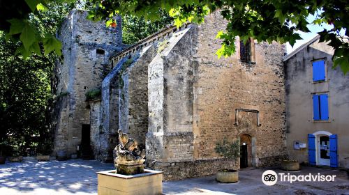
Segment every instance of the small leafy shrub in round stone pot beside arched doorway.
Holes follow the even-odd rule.
[[[226,138],[221,142],[216,143],[216,153],[225,158],[236,160],[240,155],[240,141],[239,139],[229,142]],[[238,182],[239,171],[234,169],[223,169],[216,173],[216,180],[218,182]]]

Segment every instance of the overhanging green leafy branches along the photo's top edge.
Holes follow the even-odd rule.
[[[31,52],[39,53],[38,43],[42,42],[45,54],[60,52],[60,42],[50,34],[39,34],[31,25],[31,15],[38,15],[47,10],[52,2],[66,3],[77,0],[25,0],[1,1],[0,30],[6,32],[7,38],[17,38],[22,46],[17,52],[28,56]],[[217,37],[223,40],[221,49],[216,54],[230,56],[235,52],[235,37],[242,40],[255,40],[294,45],[301,39],[297,31],[309,32],[307,24],[330,24],[330,30],[320,32],[320,41],[334,47],[334,67],[349,71],[348,17],[349,6],[346,0],[87,0],[94,5],[89,18],[107,20],[113,24],[112,16],[116,14],[144,17],[145,20],[159,20],[163,12],[174,18],[174,24],[181,26],[184,22],[201,23],[205,15],[216,10],[228,21]],[[316,15],[316,20],[307,21],[309,15]],[[339,31],[344,29],[345,35]]]

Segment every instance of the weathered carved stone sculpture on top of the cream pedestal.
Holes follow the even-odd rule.
[[[118,130],[119,144],[115,147],[116,158],[114,166],[118,174],[127,176],[144,173],[145,150],[138,148],[135,139]]]

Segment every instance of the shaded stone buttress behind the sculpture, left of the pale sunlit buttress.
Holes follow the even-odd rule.
[[[127,68],[119,73],[123,84],[119,94],[119,128],[136,139],[140,148],[145,148],[148,131],[148,65],[155,54],[154,45],[144,47],[126,57],[123,66]]]

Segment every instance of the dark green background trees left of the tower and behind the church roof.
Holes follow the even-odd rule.
[[[3,3],[6,2],[0,1],[0,3],[3,9]],[[23,13],[25,9],[22,7],[23,5],[18,11]],[[27,10],[27,16],[10,12],[8,15],[1,15],[1,28],[11,30],[11,23],[9,22],[6,27],[3,22],[7,20],[4,18],[16,16],[18,17],[16,20],[25,21],[31,29],[35,29],[36,34],[34,43],[27,52],[20,38],[24,31],[24,24],[19,33],[9,35],[0,31],[0,151],[2,155],[27,154],[27,148],[47,155],[52,149],[50,108],[58,97],[52,95],[51,88],[52,70],[57,55],[50,49],[53,47],[53,51],[60,52],[60,42],[54,38],[54,35],[73,8],[88,9],[91,8],[91,3],[52,1],[45,4],[45,10],[36,10],[34,13]],[[22,16],[23,18],[20,19],[19,17]],[[137,42],[172,21],[165,13],[157,22],[147,22],[142,17],[131,15],[124,15],[123,20],[125,21],[123,41],[126,44]],[[10,19],[10,21],[13,20]],[[50,38],[54,44],[48,51],[48,46],[45,44],[52,43],[45,42],[45,37]],[[59,52],[55,45],[58,45]],[[38,51],[31,49],[38,49]],[[16,55],[16,52],[22,52],[22,55]]]

